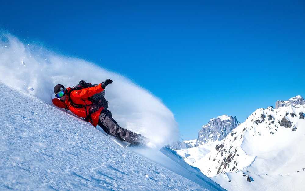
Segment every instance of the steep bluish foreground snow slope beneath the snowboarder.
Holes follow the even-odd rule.
[[[0,89],[0,190],[223,190],[169,150],[135,150],[149,160],[62,109]]]

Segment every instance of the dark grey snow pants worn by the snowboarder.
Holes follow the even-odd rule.
[[[103,109],[99,115],[98,125],[109,135],[116,137],[120,141],[133,143],[138,140],[140,134],[134,133],[127,129],[120,127],[112,118],[112,114],[108,109]]]

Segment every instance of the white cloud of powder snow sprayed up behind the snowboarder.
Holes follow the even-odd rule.
[[[126,77],[88,61],[59,55],[36,44],[24,44],[10,34],[0,34],[0,80],[49,104],[53,87],[72,87],[80,80],[99,84],[110,78],[105,98],[121,127],[152,140],[156,148],[178,140],[173,113],[147,90]]]

